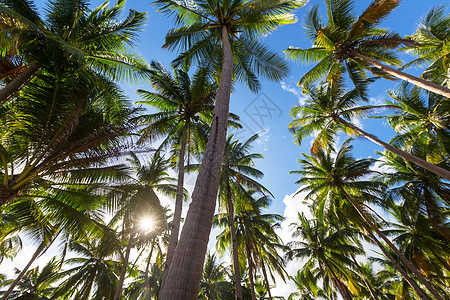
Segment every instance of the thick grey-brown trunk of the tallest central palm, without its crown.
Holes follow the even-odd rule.
[[[222,27],[223,65],[211,133],[192,193],[186,221],[169,266],[162,300],[196,300],[219,188],[220,168],[227,135],[233,53],[226,26]]]

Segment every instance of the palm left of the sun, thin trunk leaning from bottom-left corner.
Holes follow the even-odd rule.
[[[8,218],[15,219],[7,227],[9,234],[26,234],[38,244],[31,259],[3,294],[2,300],[9,297],[35,260],[58,237],[62,236],[62,240],[67,241],[72,238],[108,235],[97,211],[101,203],[98,194],[75,187],[67,191],[44,190],[32,195],[9,204],[2,210]]]

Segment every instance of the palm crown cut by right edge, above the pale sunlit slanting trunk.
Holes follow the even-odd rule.
[[[450,39],[450,16],[445,16],[444,12],[444,5],[435,6],[419,20],[416,32],[409,36],[418,45],[413,48],[405,47],[405,50],[412,50],[419,58],[407,63],[403,68],[430,64],[421,77],[450,87],[448,79],[450,52],[446,46]]]

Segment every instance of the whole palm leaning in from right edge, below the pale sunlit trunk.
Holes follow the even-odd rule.
[[[347,134],[362,135],[396,155],[445,179],[450,179],[448,170],[385,143],[376,136],[355,126],[351,122],[352,118],[366,115],[377,108],[357,106],[359,96],[356,89],[345,93],[338,81],[328,84],[323,83],[318,87],[308,85],[305,86],[304,91],[309,97],[305,105],[297,105],[291,109],[291,116],[294,120],[289,127],[296,134],[298,143],[301,143],[307,136],[319,132],[313,143],[312,153],[317,152],[320,148],[327,147],[334,141],[336,133],[342,131]],[[392,106],[388,105],[387,107]]]

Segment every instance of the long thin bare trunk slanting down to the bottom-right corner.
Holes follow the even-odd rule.
[[[378,234],[379,237],[383,239],[383,241],[388,244],[389,248],[394,251],[396,255],[403,261],[403,263],[416,275],[417,279],[426,286],[426,288],[431,292],[431,294],[436,297],[438,300],[444,300],[439,293],[433,288],[433,286],[428,282],[428,280],[422,275],[422,273],[419,272],[419,270],[414,267],[411,262],[406,259],[406,257],[403,255],[403,253],[400,252],[400,250],[395,247],[394,244],[378,229],[378,227],[366,216],[366,214],[361,210],[359,205],[357,205],[353,199],[345,192],[345,190],[340,187],[341,191],[344,193],[345,197],[350,201],[352,206],[358,211],[358,214],[364,219],[364,221]],[[426,298],[423,298],[426,299]]]

